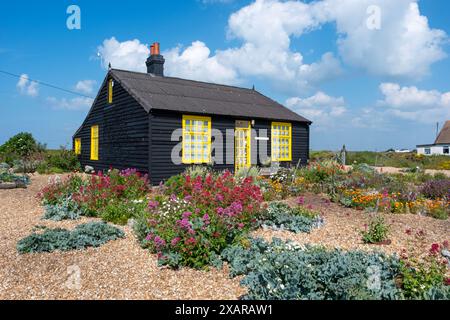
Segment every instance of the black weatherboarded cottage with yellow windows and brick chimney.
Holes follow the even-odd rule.
[[[83,167],[136,168],[157,184],[192,164],[261,164],[261,154],[282,166],[306,164],[309,120],[254,89],[164,77],[164,62],[155,43],[147,73],[109,70],[73,136]]]

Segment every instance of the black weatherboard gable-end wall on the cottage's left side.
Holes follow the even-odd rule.
[[[82,166],[95,170],[109,167],[136,168],[148,172],[148,114],[141,105],[115,81],[113,103],[108,104],[108,81],[104,81],[83,125],[74,135],[81,138]],[[91,126],[99,126],[99,160],[90,159]]]

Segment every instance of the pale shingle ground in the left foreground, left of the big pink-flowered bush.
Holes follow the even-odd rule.
[[[237,299],[245,293],[227,270],[158,268],[128,227],[125,239],[100,248],[19,255],[17,241],[36,225],[73,228],[92,220],[41,220],[35,195],[46,183],[47,177],[36,175],[26,190],[0,191],[0,299]],[[77,271],[81,289],[74,281]]]

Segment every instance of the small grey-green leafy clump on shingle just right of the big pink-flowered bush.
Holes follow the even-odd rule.
[[[320,217],[311,218],[295,214],[295,210],[282,202],[272,202],[262,213],[260,224],[272,229],[288,230],[295,233],[309,233],[323,223]]]

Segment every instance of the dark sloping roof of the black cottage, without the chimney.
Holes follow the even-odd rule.
[[[158,109],[311,123],[253,89],[117,69],[110,74],[147,112]]]

